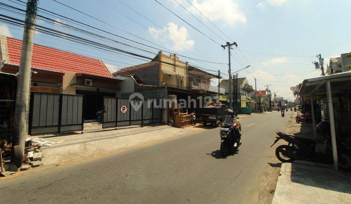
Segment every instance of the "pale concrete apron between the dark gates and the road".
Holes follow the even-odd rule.
[[[53,142],[42,147],[43,165],[57,165],[77,159],[122,151],[126,148],[206,130],[203,126],[174,128],[168,125],[125,128],[69,136],[41,137]]]

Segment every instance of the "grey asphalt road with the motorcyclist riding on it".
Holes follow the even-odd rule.
[[[239,151],[219,153],[219,128],[0,180],[0,203],[271,203],[276,131],[291,112],[241,118]]]

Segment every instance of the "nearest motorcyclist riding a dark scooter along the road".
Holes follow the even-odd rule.
[[[231,152],[235,152],[241,145],[240,123],[234,118],[234,111],[228,109],[227,116],[221,125],[219,135],[220,153],[227,156]]]

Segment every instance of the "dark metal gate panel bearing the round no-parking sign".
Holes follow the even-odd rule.
[[[131,103],[140,104],[141,100],[130,102],[125,98],[104,97],[102,128],[161,123],[162,109],[154,107],[153,102],[149,105],[148,101],[144,100],[137,109]]]

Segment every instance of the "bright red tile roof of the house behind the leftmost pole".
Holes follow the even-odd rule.
[[[10,63],[20,64],[22,41],[7,37]],[[32,67],[113,78],[101,60],[34,44]]]

